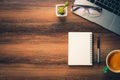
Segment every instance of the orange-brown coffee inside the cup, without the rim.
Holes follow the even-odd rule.
[[[114,52],[110,55],[108,65],[112,70],[120,70],[120,52]]]

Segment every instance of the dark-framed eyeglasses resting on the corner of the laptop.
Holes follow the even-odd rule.
[[[73,5],[72,11],[81,16],[87,14],[89,17],[99,17],[102,14],[102,8],[88,5]]]

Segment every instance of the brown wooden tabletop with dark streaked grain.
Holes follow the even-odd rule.
[[[65,0],[0,1],[0,80],[120,80],[103,73],[107,54],[120,49],[120,36],[71,13],[58,18]],[[69,67],[68,32],[93,32],[94,65]],[[96,64],[97,37],[101,64]]]

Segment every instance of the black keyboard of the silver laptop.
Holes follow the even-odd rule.
[[[118,16],[120,16],[120,0],[88,0]]]

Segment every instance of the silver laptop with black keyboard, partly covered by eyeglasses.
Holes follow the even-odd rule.
[[[120,35],[120,0],[75,0],[74,5],[86,5],[101,7],[102,13],[99,17],[88,17],[73,13]]]

